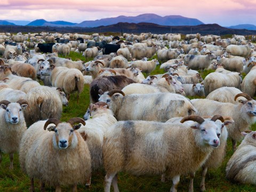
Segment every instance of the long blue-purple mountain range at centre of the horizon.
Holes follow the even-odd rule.
[[[150,22],[156,23],[163,26],[195,26],[204,24],[198,19],[186,18],[180,15],[169,15],[161,17],[157,14],[140,14],[135,17],[126,17],[124,15],[115,18],[105,18],[95,21],[83,21],[74,26],[76,27],[98,27],[98,26],[108,26],[113,25],[118,22],[128,22],[128,23],[140,23],[140,22]]]

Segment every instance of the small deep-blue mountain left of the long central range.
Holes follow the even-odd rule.
[[[66,27],[74,26],[76,23],[67,21],[46,21],[44,19],[37,19],[27,24],[27,26],[52,26],[52,27]]]

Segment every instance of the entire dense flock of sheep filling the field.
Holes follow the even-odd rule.
[[[105,191],[119,191],[117,174],[126,171],[171,178],[170,191],[189,175],[191,192],[201,167],[205,191],[207,169],[221,165],[227,138],[234,151],[227,179],[256,184],[256,44],[244,36],[1,33],[0,43],[0,162],[9,154],[13,169],[18,152],[30,191],[34,179],[42,191],[76,191],[102,167]],[[70,52],[90,61],[58,57]],[[166,73],[150,75],[160,63]],[[215,71],[203,79],[199,69]],[[83,102],[85,84],[91,104],[83,119],[61,122],[71,93]]]

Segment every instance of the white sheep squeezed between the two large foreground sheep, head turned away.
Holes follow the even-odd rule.
[[[84,119],[86,125],[81,126],[78,132],[81,135],[86,135],[86,143],[92,159],[92,171],[95,171],[103,165],[102,146],[104,133],[109,126],[117,123],[117,120],[105,102],[91,103],[84,114]],[[86,185],[90,184],[90,181],[86,183]]]

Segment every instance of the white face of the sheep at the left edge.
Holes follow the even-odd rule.
[[[19,103],[10,103],[7,106],[1,104],[1,107],[5,109],[5,121],[11,124],[18,124],[24,118],[22,110],[25,110],[27,106],[27,104],[20,105]]]

